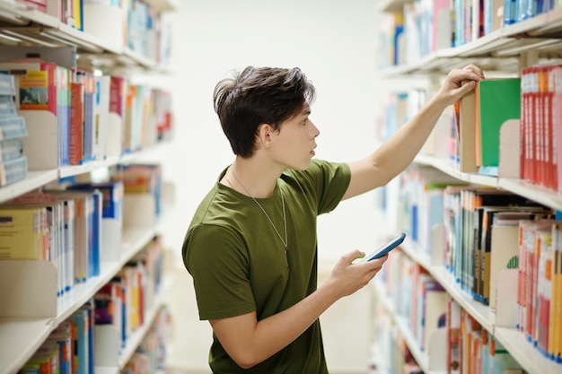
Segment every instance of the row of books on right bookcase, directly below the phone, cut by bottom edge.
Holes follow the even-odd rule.
[[[382,278],[384,288],[382,297],[392,300],[396,313],[400,315],[399,318],[405,321],[405,327],[401,328],[407,328],[408,335],[414,336],[415,343],[410,341],[409,344],[417,344],[417,347],[409,348],[425,352],[429,365],[434,370],[443,370],[450,374],[503,373],[505,370],[514,370],[514,373],[524,372],[521,365],[496,341],[492,333],[480,326],[474,317],[471,317],[447,291],[443,290],[440,283],[405,253],[400,250],[393,251],[377,277]],[[406,351],[401,339],[396,338],[396,335],[402,335],[403,332],[392,325],[388,322],[382,324],[375,322],[378,328],[391,330],[378,332],[377,335],[382,336],[381,339],[377,339],[378,344],[395,345],[390,350],[392,357],[395,357],[396,351],[402,352],[400,357],[403,361],[403,352]],[[392,338],[390,339],[389,336]],[[446,342],[436,344],[438,340],[446,340]],[[388,352],[389,350],[386,348],[375,351]],[[410,362],[408,369],[415,368],[413,365],[415,362]],[[399,361],[398,368],[402,366],[404,362]],[[392,371],[387,370],[387,372]]]

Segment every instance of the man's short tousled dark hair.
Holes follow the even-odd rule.
[[[298,67],[248,66],[216,84],[215,112],[234,154],[249,158],[259,125],[277,129],[305,103],[312,104],[314,95],[314,86]]]

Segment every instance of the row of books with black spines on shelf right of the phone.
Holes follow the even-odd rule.
[[[439,256],[431,248],[443,246],[442,257],[431,263],[443,264],[463,291],[491,310],[516,310],[512,327],[545,357],[560,361],[562,247],[556,212],[496,188],[431,183],[420,174],[409,170],[401,177],[400,227],[427,257]],[[517,271],[516,284],[500,283],[510,269]],[[513,287],[516,303],[498,305],[497,291],[505,287]]]

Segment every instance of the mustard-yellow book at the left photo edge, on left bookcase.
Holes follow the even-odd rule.
[[[0,259],[48,259],[45,208],[0,206]]]

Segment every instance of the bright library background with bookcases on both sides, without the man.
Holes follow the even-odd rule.
[[[560,0],[0,0],[0,374],[209,374],[180,246],[233,69],[300,66],[349,161],[470,63],[408,170],[319,217],[320,283],[407,235],[321,316],[330,373],[562,373],[561,30]]]

